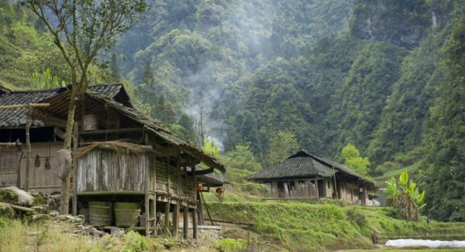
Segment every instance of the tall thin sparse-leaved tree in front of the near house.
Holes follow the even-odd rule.
[[[27,0],[22,1],[45,23],[71,72],[71,96],[65,150],[71,149],[74,111],[88,83],[88,68],[116,36],[134,26],[146,10],[145,0]],[[61,214],[68,214],[70,174],[63,180]]]

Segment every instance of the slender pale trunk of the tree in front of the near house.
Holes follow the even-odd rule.
[[[66,132],[65,132],[65,150],[71,152],[71,140],[72,140],[72,128],[74,126],[74,112],[76,111],[77,100],[74,98],[77,97],[77,88],[73,88],[70,96],[70,107],[68,107],[68,120],[66,122]],[[74,167],[73,167],[74,168]],[[70,174],[66,175],[63,184],[61,185],[61,214],[69,213],[69,195],[70,195]]]

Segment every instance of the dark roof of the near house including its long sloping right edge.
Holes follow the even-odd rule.
[[[42,112],[49,111],[52,113],[49,113],[49,115],[46,115],[45,117],[40,117],[37,113],[38,110],[34,109],[32,115],[36,116],[36,118],[41,118],[42,120],[52,122],[53,120],[49,120],[50,118],[47,118],[47,116],[61,116],[61,118],[58,118],[59,120],[65,119],[68,111],[65,102],[68,102],[69,100],[70,91],[71,90],[68,88],[21,92],[12,91],[10,93],[1,95],[0,98],[4,97],[6,101],[10,102],[10,104],[49,102],[51,103],[51,107],[42,109]],[[223,172],[226,171],[221,163],[219,163],[213,157],[206,155],[198,146],[180,139],[180,137],[175,136],[175,134],[172,134],[168,129],[161,125],[161,123],[158,123],[154,119],[145,116],[140,111],[134,109],[125,91],[125,88],[123,87],[123,84],[89,86],[85,95],[87,95],[89,99],[96,100],[97,102],[104,104],[104,106],[110,107],[114,111],[122,114],[123,116],[126,116],[130,120],[134,121],[134,123],[141,125],[144,130],[156,134],[161,139],[164,139],[171,145],[178,147],[180,150],[182,150],[182,152],[187,153],[189,156],[200,159],[200,161],[204,164],[207,164],[207,166],[217,168]],[[78,99],[80,100],[81,97],[78,97]],[[3,101],[3,99],[1,100]],[[11,129],[24,127],[24,123],[20,122],[17,118],[24,118],[25,116],[26,110],[24,109],[0,109],[0,120],[4,119],[6,122],[8,122],[3,126],[3,128]],[[41,120],[35,120],[35,123],[31,127],[44,126],[47,125],[45,125],[45,123],[43,123]],[[0,125],[0,129],[1,128],[2,126]]]

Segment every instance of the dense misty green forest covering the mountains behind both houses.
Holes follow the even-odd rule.
[[[92,66],[93,82],[125,82],[140,109],[186,139],[211,139],[226,163],[250,157],[236,168],[299,148],[342,162],[351,143],[373,177],[413,171],[426,214],[465,221],[463,1],[149,3]],[[0,0],[0,31],[2,86],[33,86],[47,68],[69,80],[19,3]]]

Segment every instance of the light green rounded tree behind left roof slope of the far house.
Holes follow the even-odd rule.
[[[269,136],[269,154],[267,164],[278,164],[286,157],[299,150],[297,138],[292,132],[278,131],[272,132]]]

